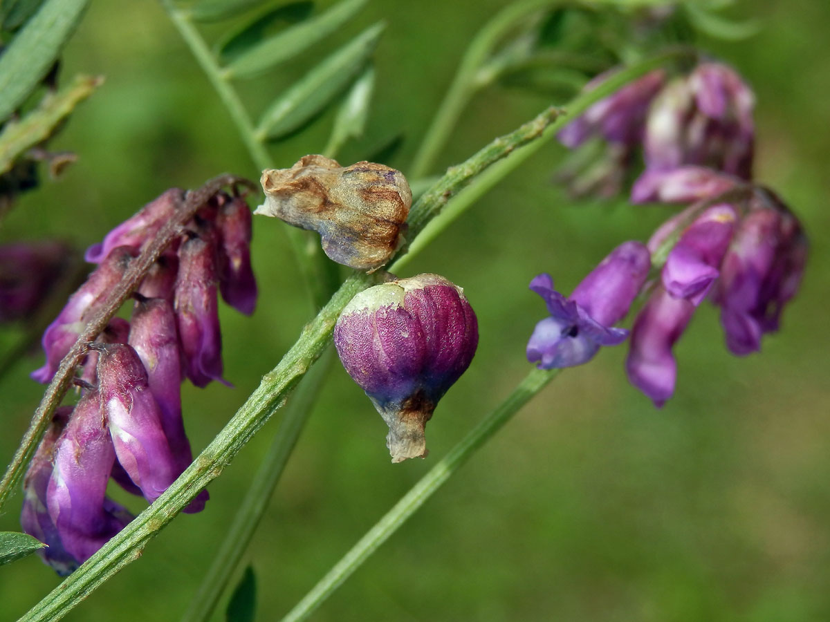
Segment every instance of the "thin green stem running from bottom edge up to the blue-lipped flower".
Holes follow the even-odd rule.
[[[541,391],[557,375],[559,369],[534,369],[515,387],[510,396],[500,406],[487,415],[461,441],[430,469],[417,484],[403,495],[398,503],[375,523],[374,527],[359,539],[357,544],[338,561],[320,582],[305,595],[303,600],[292,609],[282,622],[305,620],[366,561],[375,550],[403,525],[420,508],[432,494],[450,479],[461,464],[464,464],[476,450],[484,445],[492,435],[507,423],[510,418],[525,406],[530,399]]]

